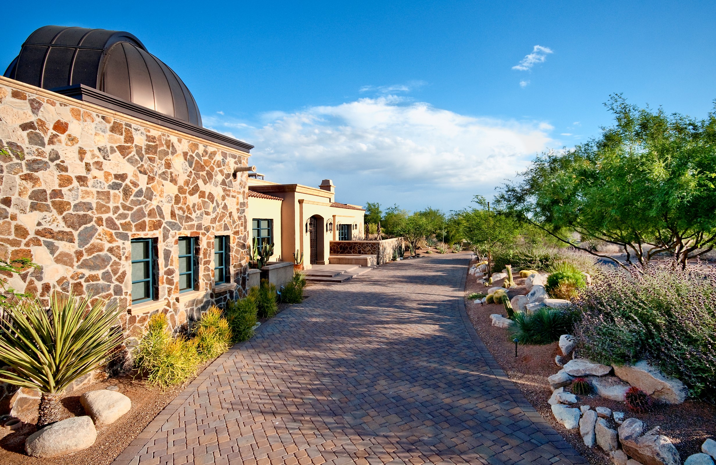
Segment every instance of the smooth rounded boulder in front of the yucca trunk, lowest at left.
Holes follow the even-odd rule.
[[[95,424],[89,416],[73,416],[45,426],[25,441],[29,456],[49,458],[82,451],[97,439]]]

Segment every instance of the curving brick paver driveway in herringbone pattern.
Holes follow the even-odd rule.
[[[467,256],[311,286],[218,358],[115,465],[585,463],[470,326]]]

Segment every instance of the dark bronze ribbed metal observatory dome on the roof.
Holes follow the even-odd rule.
[[[84,84],[201,126],[189,89],[129,32],[44,26],[27,38],[5,77],[43,89]]]

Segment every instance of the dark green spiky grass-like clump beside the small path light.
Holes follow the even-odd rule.
[[[538,308],[533,313],[516,312],[514,324],[508,328],[510,338],[521,344],[549,344],[559,341],[559,336],[569,334],[572,316],[569,312],[554,308]]]

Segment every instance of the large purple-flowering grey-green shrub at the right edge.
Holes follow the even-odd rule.
[[[581,356],[647,360],[690,396],[716,402],[716,275],[698,268],[613,270],[582,291],[574,336]]]

